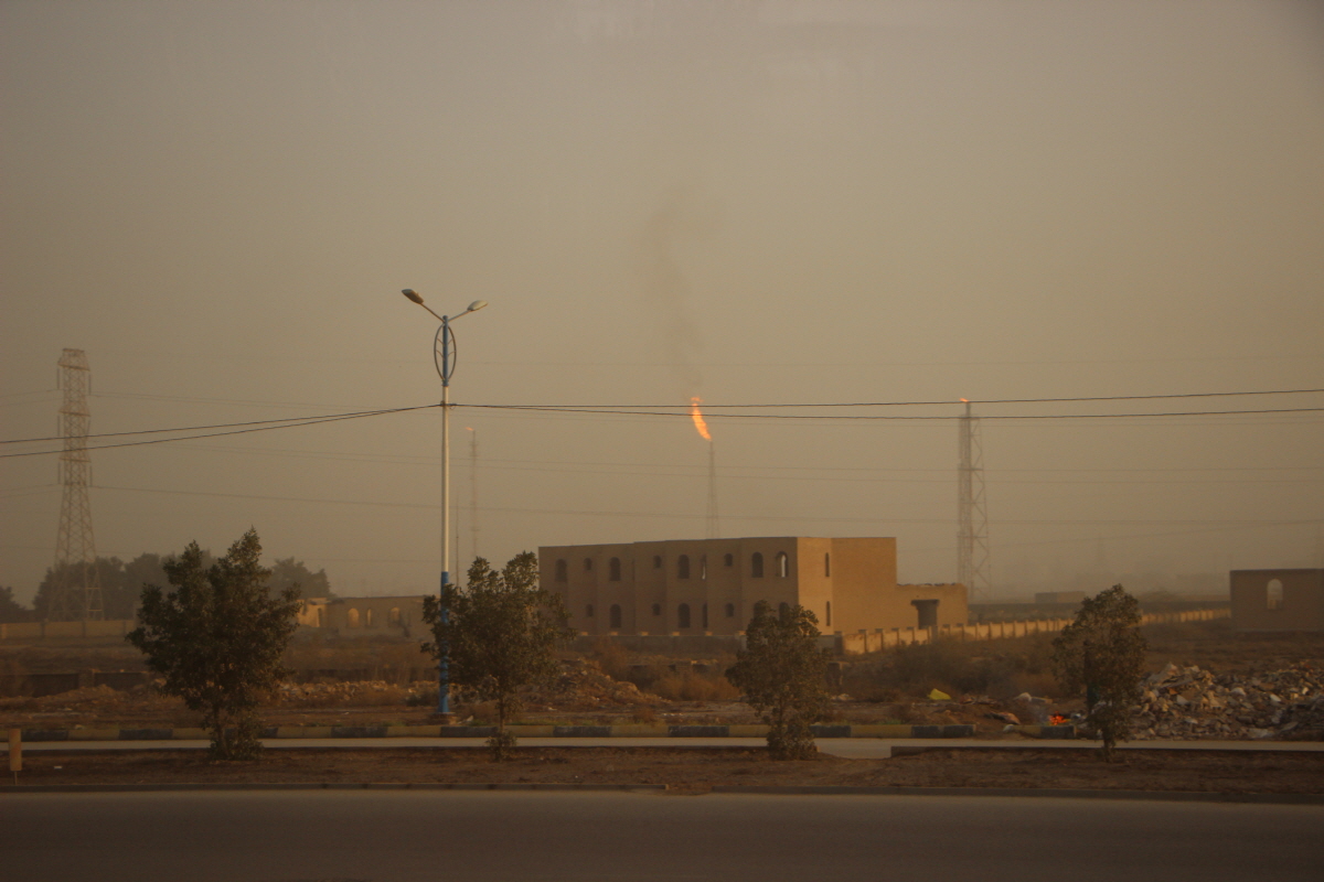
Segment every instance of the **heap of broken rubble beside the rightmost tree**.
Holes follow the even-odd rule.
[[[1214,674],[1169,664],[1144,684],[1132,738],[1324,738],[1324,682],[1308,666]]]

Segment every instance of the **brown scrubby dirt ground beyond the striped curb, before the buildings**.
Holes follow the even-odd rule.
[[[1160,670],[1166,662],[1200,665],[1214,672],[1267,672],[1288,665],[1324,668],[1324,633],[1241,635],[1226,620],[1156,625],[1145,628],[1149,641],[1149,668]],[[963,644],[965,645],[965,644]],[[997,656],[1014,666],[1017,659],[1043,655],[1045,641],[1035,637],[969,644],[981,656]],[[617,653],[620,655],[620,653]],[[406,641],[339,641],[307,643],[291,647],[286,664],[291,668],[368,668],[373,661],[385,664],[418,664],[417,644]],[[564,690],[531,701],[519,722],[556,725],[620,723],[752,723],[753,711],[727,697],[708,701],[666,700],[639,690],[624,677],[637,657],[613,659],[600,652],[592,660],[576,659]],[[655,664],[665,660],[653,659]],[[708,660],[720,670],[718,660]],[[850,657],[847,665],[867,668],[875,657]],[[977,661],[977,660],[976,660]],[[64,670],[142,670],[136,649],[120,644],[102,645],[5,645],[0,647],[0,674],[23,674]],[[606,672],[612,672],[613,678]],[[849,677],[847,677],[849,680]],[[707,681],[699,682],[704,685]],[[724,684],[726,681],[720,681]],[[1054,701],[1051,677],[1030,676],[1009,682],[1001,693],[963,696],[953,690],[955,701],[924,700],[932,677],[920,677],[910,692],[890,690],[887,701],[862,701],[858,693],[838,696],[824,722],[839,723],[968,723],[981,738],[998,738],[1009,722],[997,713],[1010,713],[1019,722],[1046,722],[1050,714],[1070,714],[1080,707],[1078,700]],[[1037,688],[1041,686],[1041,688]],[[845,689],[846,686],[843,686]],[[1049,701],[1026,706],[1008,700],[1022,688]],[[880,690],[888,692],[888,690]],[[895,693],[895,694],[892,694]],[[425,725],[432,714],[434,684],[392,684],[381,681],[318,682],[290,685],[265,706],[261,717],[267,726],[367,726]],[[491,709],[457,706],[457,722],[473,718],[486,723]],[[103,727],[191,727],[196,714],[179,700],[156,694],[150,688],[115,692],[106,686],[41,698],[0,698],[0,729],[103,729]]]

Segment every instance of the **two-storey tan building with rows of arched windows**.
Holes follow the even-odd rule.
[[[538,549],[542,587],[588,635],[736,635],[759,600],[820,631],[965,624],[965,586],[898,584],[895,538],[741,538]]]

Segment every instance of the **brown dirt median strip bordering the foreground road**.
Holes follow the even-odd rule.
[[[1324,793],[1324,752],[928,750],[892,759],[771,762],[751,748],[516,748],[494,763],[481,748],[267,750],[261,760],[211,763],[201,751],[28,752],[20,784],[544,783],[715,785],[1013,787],[1218,793]],[[7,782],[8,783],[8,782]],[[0,785],[3,792],[4,785]]]

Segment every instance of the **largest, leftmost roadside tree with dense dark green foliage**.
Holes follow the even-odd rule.
[[[126,640],[166,677],[166,694],[203,714],[213,759],[252,759],[262,748],[257,707],[289,673],[281,656],[302,602],[297,588],[267,592],[256,530],[212,566],[204,554],[192,542],[164,563],[173,590],[143,588],[142,624]]]

